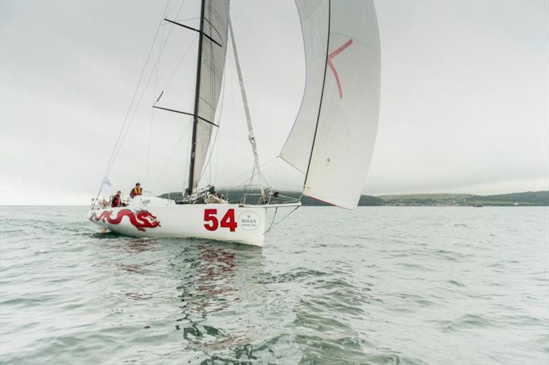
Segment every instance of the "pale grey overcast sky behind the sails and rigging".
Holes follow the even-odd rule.
[[[170,2],[168,17],[196,24],[198,3],[180,5]],[[165,6],[0,1],[1,204],[95,196]],[[364,193],[549,189],[549,2],[375,6],[382,95]],[[233,0],[231,16],[266,178],[299,190],[303,176],[275,158],[305,83],[295,5]],[[190,119],[151,105],[164,91],[159,105],[191,110],[196,33],[162,24],[152,53],[154,61],[167,39],[159,67],[145,70],[149,87],[109,174],[126,191],[138,180],[154,193],[176,191],[187,173]],[[219,186],[244,183],[253,167],[232,58],[203,179]]]

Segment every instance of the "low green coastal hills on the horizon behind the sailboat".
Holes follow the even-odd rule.
[[[230,202],[240,202],[242,190],[218,189]],[[257,193],[253,191],[252,193]],[[299,198],[301,193],[295,191],[280,191],[284,196]],[[163,198],[178,198],[181,193],[165,193]],[[248,202],[253,202],[253,196],[248,197]],[[320,202],[312,198],[303,196],[301,198],[303,206],[327,206],[325,202]],[[360,207],[371,206],[471,206],[482,204],[485,206],[513,207],[513,206],[549,206],[549,191],[526,191],[522,193],[508,193],[499,195],[471,195],[471,194],[406,194],[406,195],[387,195],[387,196],[360,196],[358,205]]]

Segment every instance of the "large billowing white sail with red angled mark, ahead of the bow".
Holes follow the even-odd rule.
[[[281,158],[305,174],[305,196],[353,209],[379,117],[375,8],[362,0],[296,0],[296,5],[307,81]]]

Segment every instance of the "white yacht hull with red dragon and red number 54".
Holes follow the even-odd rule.
[[[130,237],[196,237],[263,246],[266,206],[175,204],[137,196],[128,207],[93,209],[91,222]]]

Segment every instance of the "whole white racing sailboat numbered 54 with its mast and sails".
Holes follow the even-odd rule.
[[[304,176],[302,196],[345,209],[357,206],[373,153],[379,119],[379,31],[373,1],[296,0],[305,51],[301,108],[279,157]],[[188,185],[178,200],[135,196],[126,207],[102,204],[97,194],[91,222],[131,237],[197,237],[263,246],[268,209],[297,209],[299,200],[264,185],[248,110],[244,78],[229,16],[229,0],[201,0],[198,63]],[[259,198],[231,204],[211,186],[200,188],[231,46],[240,81],[248,140],[259,178]],[[291,212],[290,212],[291,213]],[[274,222],[274,219],[273,221]],[[271,224],[272,226],[272,224]]]

